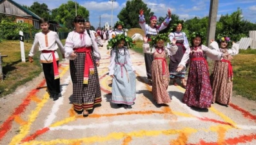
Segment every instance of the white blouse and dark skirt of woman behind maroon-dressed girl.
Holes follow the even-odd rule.
[[[184,79],[186,70],[182,70],[181,72],[177,72],[177,67],[179,63],[181,63],[181,59],[186,52],[186,48],[189,47],[188,39],[186,37],[186,34],[184,32],[172,32],[169,35],[169,39],[172,42],[172,39],[175,38],[176,46],[178,48],[175,55],[172,55],[170,57],[170,63],[169,63],[169,72],[170,72],[170,78],[180,78]],[[186,67],[188,66],[188,63],[186,64]]]

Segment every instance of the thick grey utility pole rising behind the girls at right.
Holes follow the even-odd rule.
[[[210,11],[209,11],[209,21],[208,21],[208,28],[207,28],[206,46],[209,46],[211,44],[211,40],[215,39],[218,5],[219,5],[219,0],[211,0]]]

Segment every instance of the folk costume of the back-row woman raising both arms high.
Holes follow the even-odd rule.
[[[159,31],[164,30],[171,20],[171,18],[166,18],[164,22],[161,24],[161,26],[155,26],[155,28],[151,28],[148,24],[146,24],[144,15],[139,15],[139,25],[143,29],[146,37],[148,37],[148,41],[151,41],[151,37],[157,35]],[[144,53],[144,59],[146,64],[146,75],[148,79],[152,79],[151,66],[153,61],[153,55],[150,53]]]

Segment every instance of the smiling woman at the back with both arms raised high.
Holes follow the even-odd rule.
[[[139,25],[144,31],[144,34],[146,37],[148,37],[148,41],[151,40],[151,36],[157,35],[159,31],[163,30],[168,26],[170,23],[171,16],[171,10],[168,10],[168,18],[164,20],[164,22],[161,24],[161,26],[157,26],[157,17],[155,15],[152,15],[150,17],[150,24],[146,24],[146,20],[143,15],[143,10],[140,10],[140,15],[139,15]],[[146,64],[146,75],[149,79],[149,83],[151,83],[152,80],[152,74],[151,74],[151,65],[153,61],[153,55],[150,53],[144,53],[144,59],[145,59],[145,64]]]

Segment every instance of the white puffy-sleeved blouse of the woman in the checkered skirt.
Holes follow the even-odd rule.
[[[91,36],[91,37],[90,37]],[[74,60],[75,58],[70,57],[70,54],[74,52],[74,48],[83,48],[93,46],[94,48],[94,56],[97,60],[101,59],[101,55],[99,53],[99,48],[97,46],[97,42],[95,41],[95,35],[90,31],[90,36],[87,34],[87,31],[83,33],[77,33],[72,31],[68,34],[66,38],[66,43],[64,46],[65,49],[65,57],[66,59]]]

